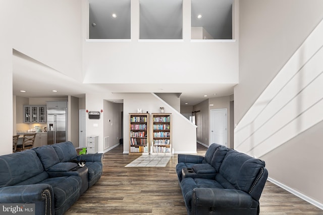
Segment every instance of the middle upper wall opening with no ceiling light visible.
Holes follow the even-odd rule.
[[[139,0],[139,39],[183,39],[183,0]]]

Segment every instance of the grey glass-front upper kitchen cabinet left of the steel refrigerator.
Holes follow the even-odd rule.
[[[24,105],[24,123],[46,122],[46,111],[46,105]]]

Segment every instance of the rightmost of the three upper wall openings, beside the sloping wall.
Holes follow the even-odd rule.
[[[191,0],[191,39],[232,39],[233,0]]]

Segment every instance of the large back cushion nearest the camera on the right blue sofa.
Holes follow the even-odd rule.
[[[264,161],[230,150],[222,162],[220,175],[236,189],[248,193],[264,166]]]

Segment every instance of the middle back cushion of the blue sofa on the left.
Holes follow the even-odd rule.
[[[60,163],[60,159],[56,151],[51,146],[42,146],[32,149],[37,153],[42,166],[47,171],[51,166]]]

